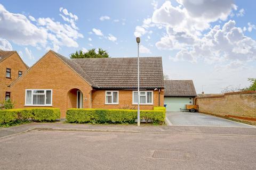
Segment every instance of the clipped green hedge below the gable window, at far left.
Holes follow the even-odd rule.
[[[59,108],[25,108],[6,109],[0,111],[0,123],[9,123],[17,120],[54,121],[60,118]]]

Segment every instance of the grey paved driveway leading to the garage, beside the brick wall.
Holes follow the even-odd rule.
[[[202,113],[167,112],[166,118],[172,125],[181,126],[224,126],[224,127],[253,127],[244,123],[226,120]],[[254,126],[255,127],[255,126]]]

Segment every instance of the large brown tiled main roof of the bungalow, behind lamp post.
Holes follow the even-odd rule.
[[[71,59],[99,88],[137,88],[137,57]],[[164,88],[162,57],[140,58],[140,88]]]

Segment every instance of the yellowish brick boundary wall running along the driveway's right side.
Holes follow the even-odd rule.
[[[197,97],[199,112],[256,124],[256,91]]]

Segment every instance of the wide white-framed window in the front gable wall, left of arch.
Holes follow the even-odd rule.
[[[52,90],[26,90],[27,106],[52,106]]]

